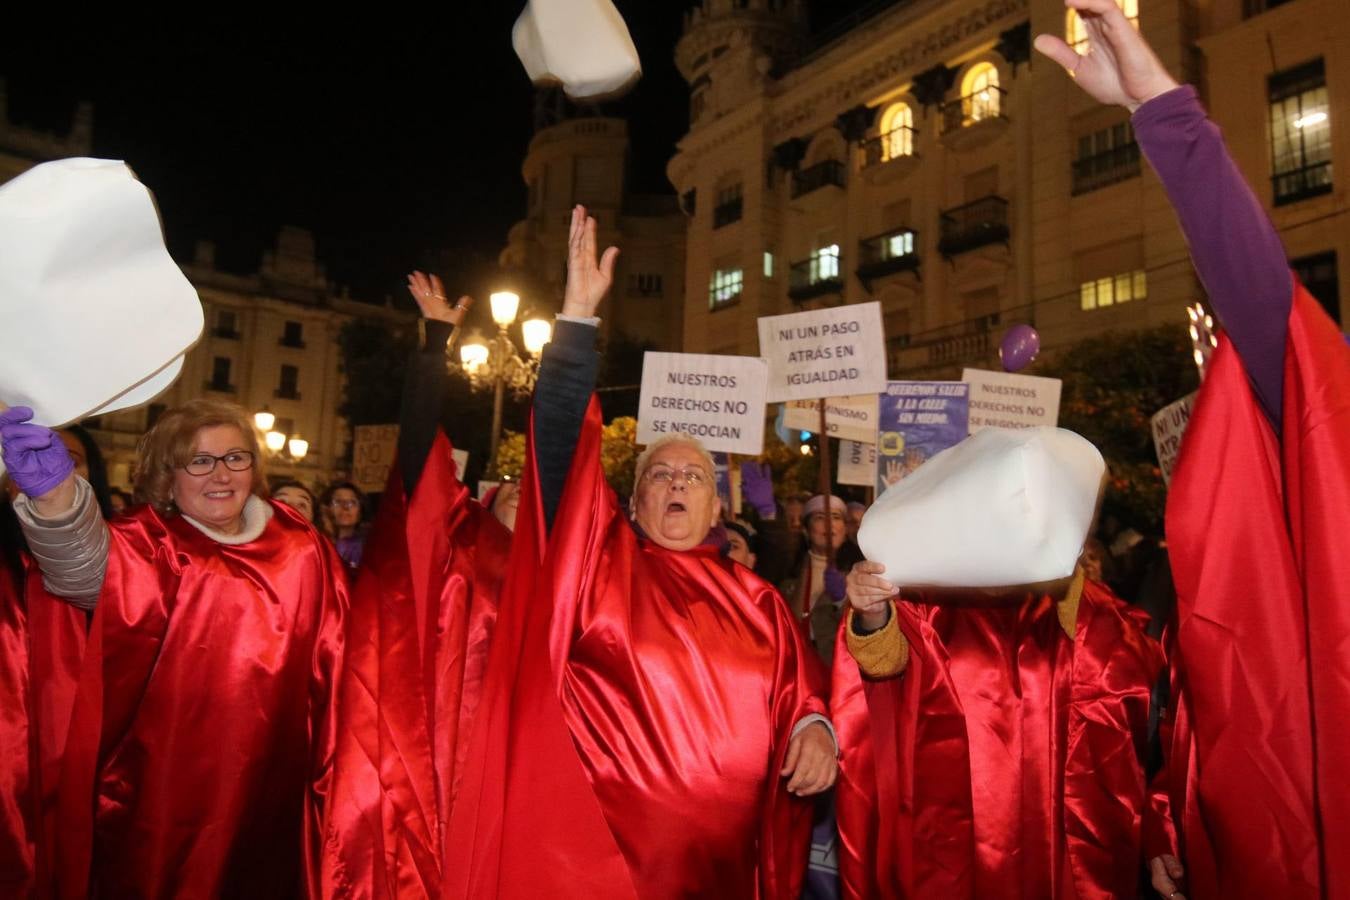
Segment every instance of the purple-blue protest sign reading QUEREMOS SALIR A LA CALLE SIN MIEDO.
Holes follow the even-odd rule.
[[[965,439],[971,386],[891,382],[880,397],[876,490],[884,491],[930,457]]]

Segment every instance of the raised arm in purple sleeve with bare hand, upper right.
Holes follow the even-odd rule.
[[[1195,89],[1177,85],[1114,0],[1065,5],[1083,16],[1088,53],[1053,35],[1038,35],[1035,47],[1088,94],[1134,113],[1139,146],[1177,212],[1200,281],[1278,433],[1292,300],[1280,237]]]

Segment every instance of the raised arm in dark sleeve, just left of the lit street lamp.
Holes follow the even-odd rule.
[[[423,314],[418,345],[408,358],[404,397],[398,409],[398,468],[404,476],[404,491],[412,497],[446,406],[450,378],[446,347],[474,300],[460,297],[451,306],[440,278],[420,271],[408,275],[408,293],[417,301]]]

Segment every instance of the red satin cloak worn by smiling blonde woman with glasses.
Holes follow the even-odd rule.
[[[150,507],[109,533],[62,758],[59,896],[300,896],[332,754],[338,555],[275,503],[242,545]]]

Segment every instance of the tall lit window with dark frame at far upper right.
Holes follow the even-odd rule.
[[[1274,204],[1331,192],[1331,117],[1322,59],[1270,76]]]

